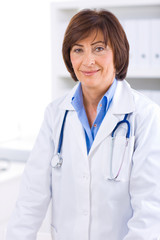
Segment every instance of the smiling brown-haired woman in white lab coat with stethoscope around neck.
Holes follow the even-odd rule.
[[[63,57],[79,83],[46,109],[7,240],[35,240],[50,199],[54,240],[159,239],[160,109],[124,80],[128,55],[112,13],[71,19]]]

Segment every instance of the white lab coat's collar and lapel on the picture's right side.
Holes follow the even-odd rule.
[[[126,113],[131,113],[134,110],[135,103],[130,85],[126,81],[118,81],[113,101],[98,130],[89,154],[112,133],[116,124],[124,118]]]

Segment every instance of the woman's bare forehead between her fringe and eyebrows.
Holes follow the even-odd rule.
[[[84,44],[84,43],[94,43],[94,42],[99,42],[99,41],[105,42],[104,35],[103,35],[102,31],[94,30],[94,31],[90,32],[87,37],[85,36],[81,40],[78,40],[76,43]]]

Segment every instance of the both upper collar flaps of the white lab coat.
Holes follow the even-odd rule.
[[[78,84],[66,95],[60,108],[70,111],[75,111],[73,105],[71,104],[72,97],[78,87]],[[130,85],[125,81],[118,81],[115,95],[110,106],[110,111],[112,114],[125,114],[131,113],[135,110],[135,103],[133,99],[133,94]]]

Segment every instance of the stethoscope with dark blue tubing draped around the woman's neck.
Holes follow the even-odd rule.
[[[64,125],[65,125],[67,114],[68,114],[68,110],[66,110],[65,114],[64,114],[62,127],[61,127],[61,131],[60,131],[58,150],[57,150],[56,155],[52,159],[52,167],[57,168],[57,169],[60,168],[62,166],[62,163],[63,163],[63,158],[61,156],[61,148],[62,148],[62,142],[63,142]],[[108,178],[108,180],[116,181],[116,179],[118,178],[118,176],[120,174],[120,171],[121,171],[121,168],[122,168],[122,165],[123,165],[123,162],[124,162],[124,156],[125,156],[126,148],[128,146],[128,140],[130,138],[130,123],[127,120],[127,117],[128,117],[128,114],[125,114],[124,119],[117,123],[117,125],[115,126],[115,128],[113,129],[113,131],[111,133],[112,141],[111,141],[111,156],[110,156],[110,178]],[[122,160],[121,160],[120,167],[117,171],[117,174],[113,175],[112,164],[113,164],[113,149],[114,149],[115,133],[116,133],[117,129],[120,127],[120,125],[122,125],[122,124],[127,125],[126,144],[125,144],[125,148],[124,148],[123,157],[122,157]]]

